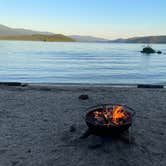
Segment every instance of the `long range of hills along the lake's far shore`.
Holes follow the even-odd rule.
[[[35,36],[34,35],[45,35]],[[58,34],[52,32],[34,31],[21,28],[10,28],[0,24],[0,40],[33,40],[33,41],[76,41],[76,42],[103,42],[103,43],[160,43],[166,44],[166,35],[156,36],[141,36],[131,37],[127,39],[119,38],[116,40],[109,40],[93,36],[80,36],[80,35],[62,35],[62,40]],[[28,37],[30,36],[30,37]],[[51,37],[52,36],[52,37]],[[57,37],[57,39],[56,39]],[[7,39],[8,38],[8,39]]]

